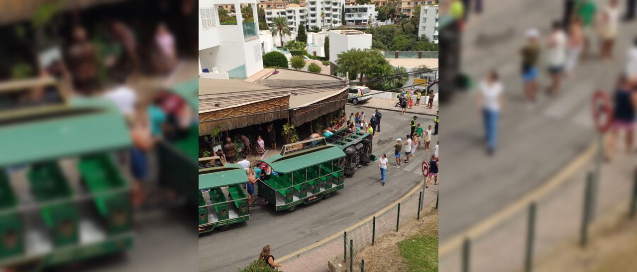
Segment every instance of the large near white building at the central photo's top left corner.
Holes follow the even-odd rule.
[[[220,24],[218,8],[232,6],[234,20]],[[252,8],[244,20],[241,5]],[[202,78],[245,79],[263,70],[256,0],[199,0],[199,75]],[[230,22],[233,22],[232,24]],[[268,45],[265,45],[268,46]]]

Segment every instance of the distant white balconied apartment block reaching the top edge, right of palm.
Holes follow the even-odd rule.
[[[341,11],[345,6],[345,0],[308,0],[306,10],[308,13],[308,25],[310,29],[339,27]]]

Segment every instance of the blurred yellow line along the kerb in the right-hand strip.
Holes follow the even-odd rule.
[[[526,194],[526,196],[523,196],[519,200],[515,201],[514,203],[512,203],[512,205],[503,208],[496,214],[487,217],[487,219],[483,220],[479,224],[476,224],[466,231],[462,231],[462,233],[455,235],[453,238],[443,243],[438,248],[438,255],[443,256],[445,254],[448,254],[454,248],[459,247],[465,238],[480,237],[490,229],[497,226],[497,224],[500,224],[501,222],[505,221],[505,219],[511,217],[516,212],[527,208],[532,201],[537,200],[538,198],[540,198],[540,196],[543,196],[544,194],[552,191],[553,189],[555,189],[555,187],[559,186],[569,177],[571,177],[571,175],[573,175],[576,170],[582,167],[585,163],[587,163],[587,161],[590,160],[590,158],[592,158],[592,156],[594,156],[594,154],[596,154],[597,149],[598,148],[596,143],[591,144],[586,151],[578,155],[575,160],[571,161],[571,163],[569,163],[566,168],[563,168],[559,173],[557,173],[557,175],[554,175],[541,187],[529,194]]]

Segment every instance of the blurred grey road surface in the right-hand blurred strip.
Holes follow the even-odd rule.
[[[469,19],[462,41],[462,71],[481,79],[489,69],[497,69],[505,85],[505,111],[496,156],[487,158],[475,91],[460,93],[441,106],[443,142],[454,143],[441,153],[449,161],[442,167],[447,178],[440,188],[441,243],[540,186],[596,137],[590,94],[600,87],[612,88],[637,24],[622,24],[614,62],[583,62],[575,77],[564,83],[561,95],[548,99],[542,92],[540,103],[527,109],[518,54],[524,32],[537,27],[546,37],[552,20],[561,18],[562,5],[563,1],[553,0],[487,0],[486,13]],[[543,62],[546,59],[541,57]],[[548,85],[545,67],[541,64],[541,90]]]

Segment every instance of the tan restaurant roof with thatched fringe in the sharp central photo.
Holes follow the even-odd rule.
[[[316,87],[308,88],[312,85]],[[294,111],[271,111],[343,98],[347,98],[347,86],[341,79],[289,69],[279,69],[278,74],[267,74],[255,83],[199,78],[199,135],[206,135],[220,125],[224,130],[231,130],[285,118],[298,126],[340,109],[347,101]],[[269,113],[258,114],[261,112]],[[248,114],[257,115],[245,116]],[[236,116],[245,117],[215,121]]]

